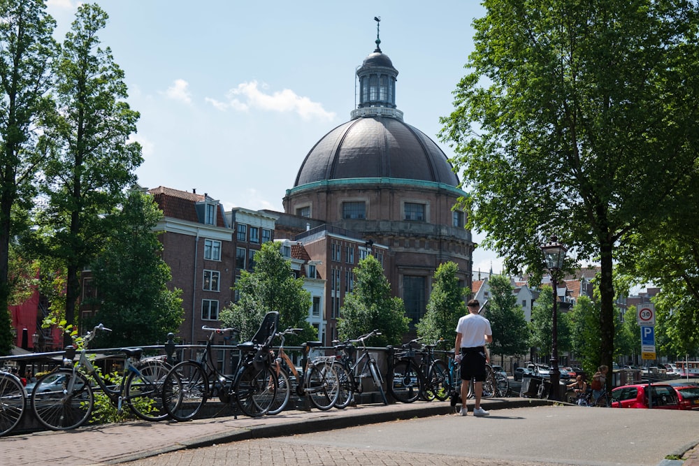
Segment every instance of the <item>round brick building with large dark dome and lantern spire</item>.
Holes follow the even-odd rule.
[[[438,145],[403,121],[396,108],[398,70],[379,45],[377,34],[376,49],[356,71],[358,107],[308,152],[284,196],[284,212],[361,235],[380,252],[394,296],[403,298],[415,323],[440,263],[457,263],[463,286],[470,286],[474,245],[464,213],[452,210],[465,196],[459,179]],[[331,268],[343,263],[336,262],[323,267],[333,303],[344,296],[331,283]]]

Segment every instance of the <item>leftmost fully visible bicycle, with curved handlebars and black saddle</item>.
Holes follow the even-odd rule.
[[[91,381],[107,395],[119,411],[124,402],[132,412],[145,421],[161,421],[168,416],[162,405],[162,384],[170,366],[159,358],[141,360],[143,349],[122,348],[118,354],[126,356],[123,377],[114,385],[92,365],[87,357],[87,345],[97,331],[110,332],[101,323],[82,337],[80,358],[76,364],[75,349],[66,348],[63,366],[45,374],[36,382],[31,392],[31,409],[40,423],[51,430],[69,430],[87,422],[94,407]],[[84,370],[85,372],[82,372]],[[55,374],[63,377],[59,388],[51,382]]]

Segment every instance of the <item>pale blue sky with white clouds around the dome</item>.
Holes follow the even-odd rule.
[[[62,41],[78,2],[48,0]],[[208,193],[231,207],[282,211],[311,147],[355,108],[355,70],[373,52],[398,69],[405,122],[437,138],[473,50],[475,0],[98,0],[99,37],[140,112],[139,183]],[[479,241],[479,238],[475,238]],[[477,251],[473,270],[500,271]]]

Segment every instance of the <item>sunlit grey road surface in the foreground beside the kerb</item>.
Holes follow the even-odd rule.
[[[698,426],[697,412],[524,407],[232,442],[127,464],[656,466],[698,444]]]

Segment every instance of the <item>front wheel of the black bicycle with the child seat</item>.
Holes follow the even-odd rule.
[[[209,381],[194,361],[176,364],[163,381],[163,407],[175,421],[194,418],[208,399]]]

